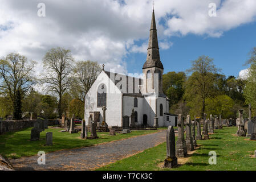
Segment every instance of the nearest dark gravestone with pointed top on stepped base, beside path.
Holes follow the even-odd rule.
[[[178,166],[178,159],[176,158],[175,151],[175,133],[173,126],[169,126],[166,133],[166,159],[164,166],[174,168]]]

